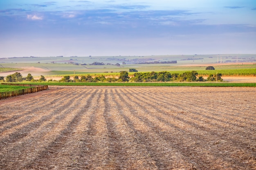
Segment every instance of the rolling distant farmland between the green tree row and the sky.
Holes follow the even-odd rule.
[[[11,74],[9,68],[12,68],[14,73],[23,68],[22,71],[19,71],[23,76],[31,73],[32,76],[47,75],[52,77],[74,75],[74,71],[76,75],[104,74],[112,76],[120,71],[129,71],[129,68],[135,68],[139,72],[171,71],[180,73],[198,71],[200,75],[207,75],[218,71],[226,75],[237,75],[244,72],[246,75],[254,75],[256,72],[255,58],[255,54],[1,58],[0,69],[2,68],[3,71],[0,70],[0,76]],[[177,61],[177,64],[136,64],[167,61]],[[89,65],[94,62],[105,65]],[[114,65],[117,63],[120,66]],[[216,70],[205,71],[206,66],[214,66]]]

